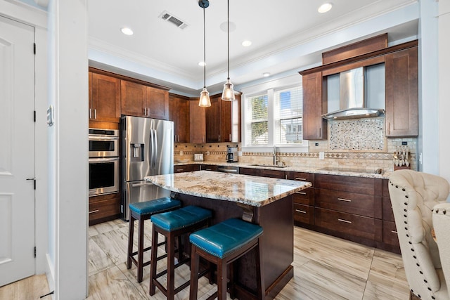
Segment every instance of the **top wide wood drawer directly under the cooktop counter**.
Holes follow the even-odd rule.
[[[378,195],[378,184],[381,182],[376,178],[363,178],[355,176],[339,176],[315,174],[314,188],[325,188],[327,190],[340,190],[350,193],[359,193],[365,195]],[[375,189],[376,188],[376,189]],[[375,193],[376,190],[376,193]]]

